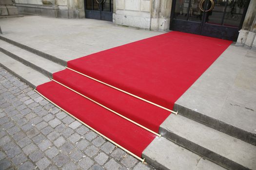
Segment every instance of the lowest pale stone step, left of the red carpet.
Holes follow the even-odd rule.
[[[36,88],[37,85],[49,82],[49,78],[38,71],[23,65],[19,61],[0,52],[0,66],[20,78],[21,81]]]

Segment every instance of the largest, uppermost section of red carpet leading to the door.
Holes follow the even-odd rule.
[[[169,32],[68,62],[68,67],[172,109],[232,41]]]

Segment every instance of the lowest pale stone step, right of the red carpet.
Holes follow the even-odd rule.
[[[155,138],[142,157],[159,170],[225,170],[164,137]]]

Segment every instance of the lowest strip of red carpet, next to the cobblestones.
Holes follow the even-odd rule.
[[[37,90],[76,118],[139,157],[156,137],[55,82],[39,85]]]

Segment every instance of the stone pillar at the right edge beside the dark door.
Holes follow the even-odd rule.
[[[256,48],[256,0],[251,0],[236,45]]]

